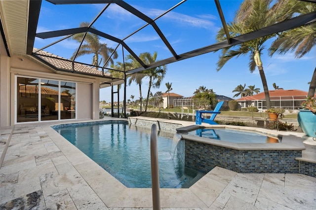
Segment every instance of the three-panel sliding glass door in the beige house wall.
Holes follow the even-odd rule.
[[[17,77],[17,122],[76,119],[76,83]]]

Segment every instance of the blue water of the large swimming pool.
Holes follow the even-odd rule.
[[[150,129],[123,122],[54,129],[126,187],[152,187]],[[187,188],[204,174],[185,168],[179,153],[170,154],[172,137],[158,131],[160,188]]]

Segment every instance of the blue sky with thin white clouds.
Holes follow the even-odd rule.
[[[126,0],[132,6],[154,19],[165,10],[171,8],[180,1],[177,0]],[[233,21],[235,11],[242,1],[240,0],[221,0],[221,6],[226,18],[226,22]],[[37,32],[54,31],[68,28],[77,28],[79,23],[91,22],[105,5],[53,5],[42,1],[40,20]],[[82,9],[85,11],[82,13]],[[80,15],[78,15],[80,14]],[[214,44],[215,36],[221,27],[214,1],[210,0],[187,0],[164,17],[156,21],[158,27],[164,33],[177,54],[185,53],[199,47]],[[94,27],[109,35],[123,39],[136,29],[144,26],[145,22],[121,9],[117,5],[111,4],[102,14]],[[35,47],[41,48],[57,39],[36,38]],[[108,46],[115,48],[117,44],[107,39],[100,39]],[[125,43],[137,54],[142,52],[158,52],[158,59],[162,60],[171,57],[171,53],[158,38],[157,33],[151,26],[132,35],[124,40]],[[271,41],[266,43],[269,48]],[[78,43],[73,40],[64,40],[46,51],[59,56],[70,58],[78,47]],[[118,48],[120,49],[120,48]],[[128,52],[124,50],[124,56]],[[152,89],[154,94],[157,91],[165,92],[165,83],[172,83],[172,92],[189,97],[199,86],[205,86],[218,95],[233,97],[232,91],[239,84],[255,85],[263,92],[262,82],[259,71],[256,69],[250,73],[248,69],[248,56],[240,56],[231,59],[220,71],[216,71],[219,52],[207,53],[194,58],[186,59],[167,65],[167,73],[159,89]],[[79,57],[80,62],[91,62],[92,55]],[[116,61],[121,62],[122,54]],[[308,91],[308,82],[316,67],[316,49],[301,59],[295,59],[293,53],[269,57],[267,51],[262,55],[263,68],[266,74],[268,88],[273,90],[273,83],[284,89],[299,89]],[[127,86],[126,100],[134,100],[139,97],[139,90],[136,84]],[[143,80],[142,96],[146,98],[148,90],[148,79]],[[120,90],[120,101],[123,100],[123,89]],[[111,88],[100,90],[100,101],[111,101]],[[116,100],[115,100],[116,101]]]

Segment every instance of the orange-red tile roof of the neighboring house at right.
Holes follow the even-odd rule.
[[[296,100],[306,99],[308,92],[302,90],[269,90],[270,100]],[[316,95],[315,95],[316,96]],[[265,93],[261,92],[253,96],[245,96],[236,101],[266,100]]]

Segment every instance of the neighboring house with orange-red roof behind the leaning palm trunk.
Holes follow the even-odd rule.
[[[298,110],[301,108],[301,104],[306,99],[307,94],[308,92],[302,90],[270,90],[271,107]],[[242,97],[236,101],[241,108],[255,106],[261,111],[267,109],[264,92],[253,96]]]

